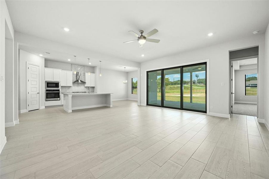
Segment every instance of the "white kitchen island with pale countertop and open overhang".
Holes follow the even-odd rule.
[[[64,110],[72,112],[75,109],[93,107],[112,107],[113,93],[62,93],[64,95]]]

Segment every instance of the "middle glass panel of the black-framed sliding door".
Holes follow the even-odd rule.
[[[181,108],[180,67],[163,70],[163,106]]]

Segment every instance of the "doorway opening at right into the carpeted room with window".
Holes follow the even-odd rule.
[[[231,64],[231,113],[257,116],[258,57]]]

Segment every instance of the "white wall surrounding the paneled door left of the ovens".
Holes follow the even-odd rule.
[[[36,64],[40,66],[39,75],[41,76],[40,84],[40,96],[39,96],[39,107],[45,106],[45,72],[44,72],[44,57],[34,55],[29,52],[25,52],[20,50],[19,52],[19,59],[20,59],[20,98],[19,98],[19,110],[21,112],[26,112],[26,95],[27,95],[27,81],[26,81],[26,62],[30,62],[32,64]]]

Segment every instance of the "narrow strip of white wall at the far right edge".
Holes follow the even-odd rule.
[[[264,119],[265,121],[265,125],[267,126],[267,129],[269,130],[269,83],[268,83],[268,79],[269,79],[269,24],[267,26],[267,30],[265,33],[265,64],[264,64],[264,68],[265,68],[265,80],[264,80],[264,84],[265,84],[265,88],[264,88],[264,92],[265,92],[265,117],[261,118]],[[260,69],[259,69],[260,70]],[[260,107],[259,107],[260,108]]]

